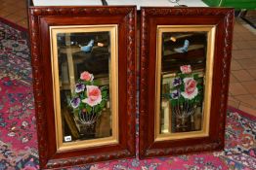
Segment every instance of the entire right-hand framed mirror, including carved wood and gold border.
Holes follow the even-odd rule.
[[[223,149],[233,13],[142,9],[141,158]]]

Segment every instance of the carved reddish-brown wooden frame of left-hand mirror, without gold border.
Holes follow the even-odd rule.
[[[136,7],[29,7],[33,88],[41,169],[135,156]],[[118,144],[57,152],[49,26],[118,25]]]

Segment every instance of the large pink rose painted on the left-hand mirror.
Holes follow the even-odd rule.
[[[87,97],[82,100],[83,103],[87,103],[90,106],[95,106],[101,103],[102,101],[102,92],[99,86],[96,85],[86,85]]]

